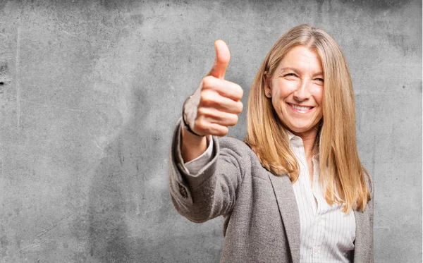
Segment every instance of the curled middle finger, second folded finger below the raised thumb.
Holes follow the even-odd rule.
[[[203,90],[198,107],[198,109],[200,109],[200,107],[210,107],[230,114],[240,114],[240,112],[243,111],[243,102],[235,102],[233,99],[221,96],[214,90]]]

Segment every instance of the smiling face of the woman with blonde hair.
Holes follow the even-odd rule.
[[[297,46],[288,51],[271,78],[266,79],[266,97],[271,97],[278,117],[295,135],[317,133],[323,116],[323,78],[319,56],[307,47]]]

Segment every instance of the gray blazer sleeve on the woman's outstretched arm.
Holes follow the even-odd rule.
[[[169,159],[169,190],[173,206],[179,214],[196,223],[229,214],[243,177],[251,169],[244,157],[243,147],[247,146],[236,139],[212,136],[211,161],[198,173],[189,173],[180,152],[180,122],[181,119],[173,132]]]

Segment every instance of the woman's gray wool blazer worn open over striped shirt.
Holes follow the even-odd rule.
[[[180,154],[180,120],[169,164],[171,200],[190,221],[223,216],[221,262],[300,262],[300,217],[288,176],[263,168],[244,142],[213,137],[212,161],[197,175],[187,173]],[[355,262],[374,262],[372,201],[354,211]]]

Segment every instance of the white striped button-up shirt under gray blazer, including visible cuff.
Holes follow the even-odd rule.
[[[310,179],[302,139],[289,134],[290,148],[300,164],[300,176],[293,190],[300,214],[300,262],[353,262],[355,216],[346,215],[338,204],[330,206],[319,184],[318,156],[313,157],[313,182]],[[185,163],[192,174],[212,159],[213,140],[200,157]]]

